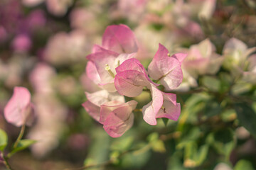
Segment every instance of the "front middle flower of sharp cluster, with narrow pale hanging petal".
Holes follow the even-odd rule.
[[[180,60],[181,56],[178,56]],[[176,59],[175,59],[176,60]],[[156,125],[156,118],[177,120],[181,113],[174,94],[165,94],[156,88],[158,84],[151,81],[146,70],[137,59],[124,61],[116,68],[114,85],[119,94],[129,97],[139,96],[144,86],[151,91],[152,101],[142,108],[143,118],[149,125]]]

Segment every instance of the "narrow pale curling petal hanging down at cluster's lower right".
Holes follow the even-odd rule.
[[[143,119],[146,123],[149,123],[149,125],[156,125],[156,114],[163,105],[164,98],[161,91],[159,91],[159,89],[157,89],[155,86],[151,85],[150,90],[152,101],[143,106]]]

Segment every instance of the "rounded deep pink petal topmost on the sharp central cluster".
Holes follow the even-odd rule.
[[[130,30],[125,25],[108,26],[102,38],[102,47],[107,50],[121,53],[137,52],[137,40]]]

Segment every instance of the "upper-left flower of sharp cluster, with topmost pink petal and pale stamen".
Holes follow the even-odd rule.
[[[125,60],[135,57],[137,40],[127,26],[109,26],[102,38],[102,47],[95,45],[87,56],[88,77],[102,89],[114,92],[115,68]]]

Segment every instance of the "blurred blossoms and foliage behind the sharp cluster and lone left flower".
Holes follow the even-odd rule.
[[[120,23],[134,31],[145,67],[159,42],[171,53],[188,52],[188,60],[176,91],[178,122],[151,126],[136,112],[132,129],[114,139],[81,104],[85,91],[97,91],[85,57],[107,26]],[[20,130],[3,113],[14,86],[31,91],[37,114],[24,137],[38,142],[9,163],[18,170],[256,169],[256,62],[239,66],[255,46],[254,0],[1,0],[0,128],[9,147]],[[191,62],[198,54],[209,58],[203,70]],[[238,79],[241,68],[255,74]],[[150,96],[136,100],[142,108]],[[237,101],[249,115],[234,109]]]

